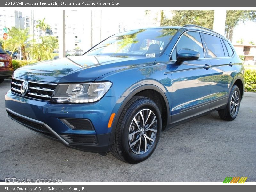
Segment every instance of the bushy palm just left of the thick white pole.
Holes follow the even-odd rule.
[[[58,39],[54,36],[42,36],[41,43],[33,44],[30,49],[30,57],[33,59],[49,60],[52,59],[52,52],[58,45]]]

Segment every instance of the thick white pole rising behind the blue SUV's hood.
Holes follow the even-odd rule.
[[[59,58],[66,56],[65,36],[65,10],[63,10],[60,12]]]

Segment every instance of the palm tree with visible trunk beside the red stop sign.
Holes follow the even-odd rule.
[[[9,31],[9,36],[11,38],[9,38],[6,41],[5,45],[5,47],[10,47],[13,51],[20,46],[21,53],[23,55],[23,60],[27,60],[26,47],[30,43],[30,35],[28,34],[28,31],[28,28],[20,29],[12,27],[11,30]]]

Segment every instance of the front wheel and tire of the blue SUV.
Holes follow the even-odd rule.
[[[132,164],[146,160],[157,146],[161,127],[156,104],[147,97],[133,97],[118,119],[112,155]]]

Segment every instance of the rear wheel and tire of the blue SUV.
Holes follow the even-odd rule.
[[[220,118],[226,121],[233,121],[238,114],[240,100],[240,90],[234,85],[231,89],[227,106],[224,109],[218,110]]]

